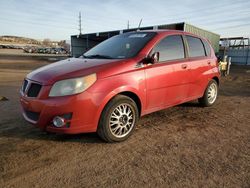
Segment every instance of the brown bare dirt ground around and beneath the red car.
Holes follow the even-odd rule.
[[[18,91],[47,61],[0,57],[0,187],[250,187],[250,66],[223,78],[215,106],[196,101],[143,117],[125,142],[45,134]]]

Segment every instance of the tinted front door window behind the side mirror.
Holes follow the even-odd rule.
[[[164,38],[154,48],[154,52],[160,53],[160,62],[183,59],[185,57],[185,53],[181,35],[172,35]]]

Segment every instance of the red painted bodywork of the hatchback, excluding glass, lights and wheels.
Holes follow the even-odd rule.
[[[201,97],[209,80],[219,79],[217,58],[212,48],[210,57],[187,57],[136,67],[161,39],[173,34],[187,33],[157,31],[157,35],[136,57],[127,60],[72,58],[33,71],[26,79],[42,83],[43,86],[37,98],[26,97],[21,92],[24,118],[51,132],[95,132],[103,108],[121,92],[132,92],[138,96],[141,116]],[[97,81],[83,93],[64,97],[48,96],[56,81],[91,73],[96,73]],[[38,121],[27,118],[24,109],[40,113]],[[53,117],[66,113],[73,113],[69,128],[52,126]]]

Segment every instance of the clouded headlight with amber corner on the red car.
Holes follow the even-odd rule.
[[[81,78],[61,80],[52,86],[49,96],[66,96],[81,93],[93,85],[95,81],[96,74],[90,74]]]

